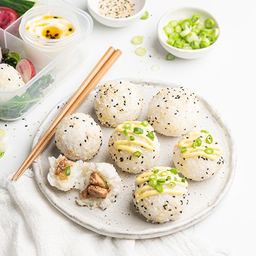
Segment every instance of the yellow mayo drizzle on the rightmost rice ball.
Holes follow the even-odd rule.
[[[198,156],[204,156],[206,158],[209,158],[213,161],[217,160],[217,156],[222,156],[222,150],[221,147],[216,146],[214,143],[216,142],[215,138],[212,138],[213,141],[211,144],[207,144],[205,142],[205,138],[207,138],[208,134],[206,134],[205,138],[201,138],[202,139],[202,145],[201,146],[197,146],[196,148],[193,147],[193,143],[194,141],[201,136],[202,133],[201,132],[190,132],[187,134],[187,138],[183,138],[179,141],[179,147],[187,147],[187,151],[185,153],[181,153],[181,156],[183,158],[189,158],[189,157],[198,157]],[[212,154],[206,154],[204,152],[206,146],[208,148],[212,148],[212,150],[214,150],[214,153]]]

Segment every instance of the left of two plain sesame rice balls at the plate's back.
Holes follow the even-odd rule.
[[[129,81],[108,81],[100,86],[94,108],[102,125],[116,127],[125,120],[135,120],[141,113],[143,99]]]

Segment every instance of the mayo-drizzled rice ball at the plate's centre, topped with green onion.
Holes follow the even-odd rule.
[[[140,173],[156,165],[160,143],[147,121],[124,121],[109,139],[111,158],[124,171]]]

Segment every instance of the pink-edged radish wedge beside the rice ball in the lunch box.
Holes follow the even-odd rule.
[[[16,70],[22,76],[22,79],[25,83],[27,83],[32,77],[36,75],[33,63],[26,58],[22,58],[18,61]]]

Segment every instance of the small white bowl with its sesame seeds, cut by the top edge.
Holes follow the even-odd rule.
[[[101,24],[120,28],[134,23],[144,14],[147,0],[88,0],[91,15]]]

